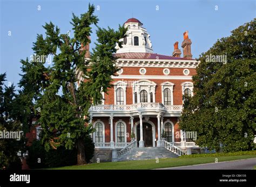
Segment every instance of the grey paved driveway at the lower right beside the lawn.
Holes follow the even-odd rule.
[[[253,169],[254,166],[256,158],[161,169]]]

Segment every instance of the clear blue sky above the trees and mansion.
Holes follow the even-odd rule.
[[[256,17],[256,1],[5,1],[0,0],[0,73],[7,73],[7,81],[19,81],[21,59],[33,54],[32,42],[37,33],[44,33],[42,25],[52,21],[62,33],[71,30],[72,12],[87,11],[88,3],[98,6],[95,14],[98,26],[117,28],[127,19],[139,19],[151,35],[154,53],[171,55],[173,44],[183,41],[184,31],[192,40],[193,58],[206,52],[217,39],[227,37],[230,31]],[[38,10],[40,6],[41,10]],[[217,7],[218,6],[218,7]],[[218,10],[215,10],[218,9]],[[93,27],[95,31],[96,27]],[[11,35],[8,35],[11,31]],[[91,36],[91,48],[96,41]]]

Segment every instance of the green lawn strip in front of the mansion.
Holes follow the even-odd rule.
[[[214,163],[215,159],[218,162],[250,159],[255,158],[256,155],[239,155],[239,156],[211,156],[211,157],[179,157],[171,159],[159,159],[159,163],[156,160],[139,160],[139,161],[125,161],[125,162],[103,162],[103,163],[91,163],[84,166],[66,166],[60,168],[48,168],[48,169],[156,169],[156,168],[168,168],[177,166],[189,166],[202,163]]]

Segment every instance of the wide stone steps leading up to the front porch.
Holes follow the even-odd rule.
[[[175,158],[178,155],[170,152],[164,147],[141,147],[133,148],[131,152],[120,157],[118,161],[130,161],[130,160],[146,160],[146,159],[163,159],[163,158]]]

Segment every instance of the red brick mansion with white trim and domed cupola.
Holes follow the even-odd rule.
[[[150,34],[138,19],[130,18],[124,26],[127,37],[114,54],[119,71],[112,76],[113,88],[89,110],[96,129],[95,161],[118,161],[132,149],[147,147],[191,154],[197,146],[179,128],[183,95],[193,96],[192,76],[200,63],[192,59],[188,32],[183,34],[183,56],[178,41],[169,56],[153,52]]]

